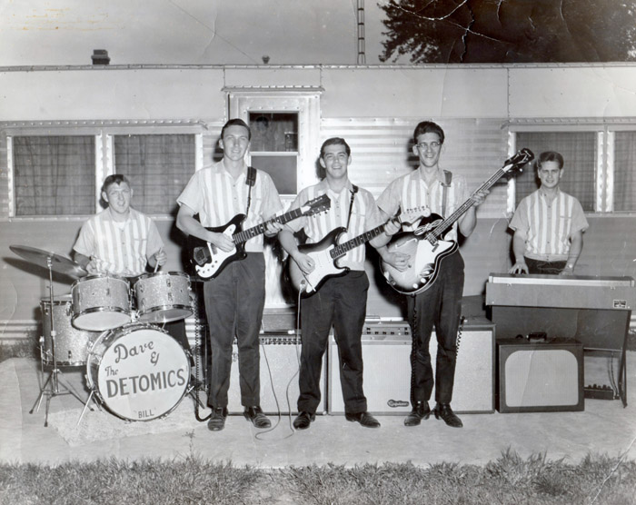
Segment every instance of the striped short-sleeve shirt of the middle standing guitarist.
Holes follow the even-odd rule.
[[[353,184],[347,183],[340,193],[334,193],[326,180],[313,186],[304,188],[293,201],[290,209],[300,208],[314,198],[326,194],[329,196],[331,206],[327,212],[314,214],[313,216],[303,216],[286,224],[293,232],[304,229],[308,239],[307,243],[320,242],[323,237],[338,227],[347,228],[349,219],[349,208],[351,207],[351,196]],[[373,194],[363,188],[358,188],[358,192],[353,197],[353,209],[351,211],[351,221],[349,227],[341,235],[338,243],[345,243],[353,238],[366,233],[373,228],[383,224],[382,214],[378,210]],[[354,247],[345,255],[338,259],[338,265],[349,267],[352,270],[364,270],[364,257],[366,249],[364,244]]]

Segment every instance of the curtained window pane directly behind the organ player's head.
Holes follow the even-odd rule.
[[[544,151],[556,151],[563,156],[563,178],[560,187],[575,196],[585,212],[594,212],[596,201],[596,137],[595,132],[519,132],[517,149],[527,147],[535,160]],[[539,187],[534,163],[516,176],[515,208],[528,194]]]

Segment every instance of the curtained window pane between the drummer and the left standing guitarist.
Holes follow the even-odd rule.
[[[194,135],[114,135],[114,172],[128,178],[132,206],[143,213],[175,213],[194,164]]]

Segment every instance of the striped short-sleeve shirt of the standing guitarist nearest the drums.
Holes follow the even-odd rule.
[[[223,161],[194,173],[184,191],[177,198],[177,203],[185,204],[194,213],[199,214],[199,221],[206,227],[223,226],[236,214],[245,213],[249,185],[245,183],[247,166],[237,179],[225,170]],[[256,171],[256,182],[252,187],[250,209],[243,221],[243,230],[252,228],[271,219],[283,210],[283,203],[278,195],[269,173]],[[245,243],[245,251],[260,253],[263,251],[263,234],[259,234]]]

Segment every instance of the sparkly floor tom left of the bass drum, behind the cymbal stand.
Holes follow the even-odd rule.
[[[53,339],[51,338],[51,302],[48,299],[40,301],[42,311],[42,330],[44,344],[42,347],[42,361],[46,364],[78,366],[86,364],[88,349],[99,336],[99,332],[84,332],[77,330],[71,324],[73,306],[71,295],[56,297],[53,301],[53,325],[55,328],[55,363],[53,360]]]

